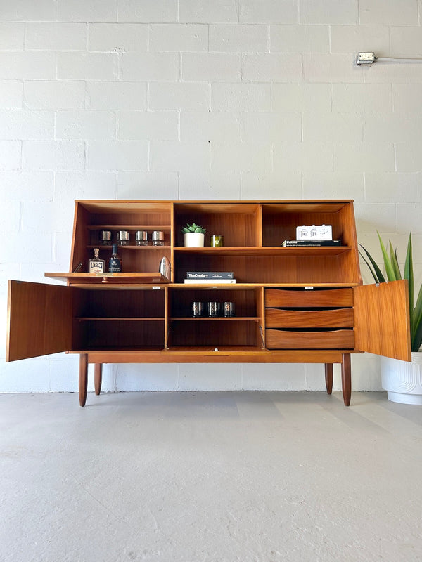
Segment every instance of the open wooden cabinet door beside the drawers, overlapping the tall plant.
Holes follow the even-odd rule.
[[[411,360],[407,281],[360,285],[354,292],[354,347]]]

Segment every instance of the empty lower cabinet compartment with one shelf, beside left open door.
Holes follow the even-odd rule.
[[[164,347],[162,289],[75,289],[73,311],[73,349]]]

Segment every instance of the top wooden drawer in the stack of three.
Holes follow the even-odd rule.
[[[316,307],[353,306],[353,289],[265,289],[265,306]]]

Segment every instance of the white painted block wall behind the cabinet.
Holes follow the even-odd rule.
[[[4,318],[9,277],[68,269],[75,199],[352,198],[380,260],[376,230],[402,255],[412,229],[421,280],[422,65],[354,65],[422,57],[421,39],[418,0],[2,1]],[[73,355],[4,355],[0,391],[77,389]],[[352,368],[380,388],[375,356]],[[108,365],[104,386],[324,388],[318,365],[201,372]]]

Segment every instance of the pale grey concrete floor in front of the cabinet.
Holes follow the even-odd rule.
[[[0,396],[1,562],[422,560],[422,407]]]

